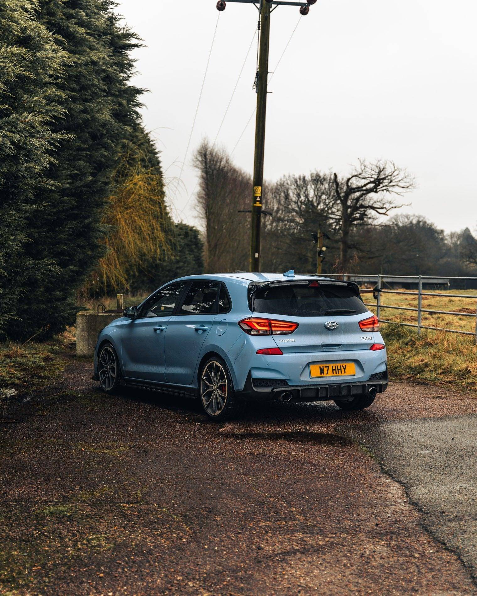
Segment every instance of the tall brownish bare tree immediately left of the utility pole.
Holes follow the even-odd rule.
[[[235,167],[228,154],[202,142],[194,155],[199,171],[196,213],[205,230],[206,271],[248,268],[252,178]]]

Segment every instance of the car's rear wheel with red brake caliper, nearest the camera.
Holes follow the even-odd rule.
[[[237,397],[227,364],[212,356],[200,369],[199,399],[209,420],[222,422],[237,417],[244,410],[244,402]]]

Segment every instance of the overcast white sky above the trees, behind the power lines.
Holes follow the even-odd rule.
[[[162,151],[166,176],[178,176],[191,132],[218,11],[216,0],[118,0],[117,10],[144,40],[135,84],[144,123]],[[300,18],[296,7],[272,14],[270,70]],[[228,2],[221,13],[175,217],[197,224],[191,157],[213,141],[230,100],[258,11]],[[332,169],[358,157],[407,167],[419,187],[403,212],[428,216],[445,231],[477,223],[476,64],[473,0],[318,0],[302,17],[271,80],[265,178]],[[256,46],[218,138],[231,151],[256,103]],[[252,172],[255,118],[234,153]],[[171,187],[170,187],[171,188]],[[174,191],[171,193],[174,195]]]

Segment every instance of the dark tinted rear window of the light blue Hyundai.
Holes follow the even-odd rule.
[[[346,316],[367,312],[367,308],[360,297],[345,286],[267,285],[253,294],[252,311],[292,316]]]

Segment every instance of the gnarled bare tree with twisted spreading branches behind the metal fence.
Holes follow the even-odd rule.
[[[347,178],[334,173],[333,179],[339,209],[332,216],[340,225],[339,266],[344,272],[349,265],[350,250],[357,248],[352,241],[353,227],[404,206],[396,203],[394,197],[412,190],[415,182],[407,170],[383,160],[360,160]]]

